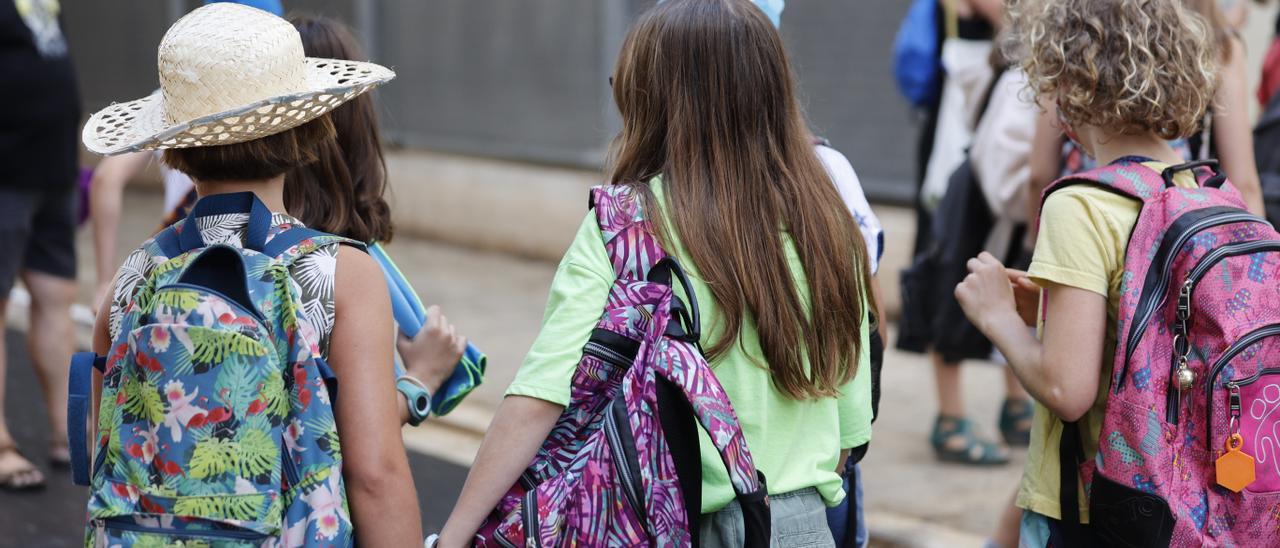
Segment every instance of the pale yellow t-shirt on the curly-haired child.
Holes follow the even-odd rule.
[[[1155,170],[1167,165],[1143,164]],[[1179,173],[1174,183],[1194,187],[1189,172]],[[1098,451],[1102,414],[1111,388],[1111,364],[1116,348],[1116,315],[1120,306],[1120,283],[1124,278],[1124,256],[1129,236],[1138,222],[1140,204],[1092,184],[1076,184],[1053,192],[1041,211],[1041,229],[1036,239],[1036,255],[1028,274],[1041,287],[1068,286],[1107,297],[1106,344],[1102,355],[1102,382],[1098,398],[1080,419],[1080,435],[1085,458]],[[1043,300],[1041,306],[1043,306]],[[1041,318],[1043,319],[1043,314]],[[1042,326],[1043,328],[1043,326]],[[1016,504],[1055,520],[1062,517],[1059,478],[1059,440],[1062,421],[1050,410],[1036,403],[1032,423],[1030,447],[1023,481],[1018,488]],[[1082,484],[1083,485],[1083,484]],[[1082,487],[1083,489],[1083,487]],[[1088,521],[1088,499],[1082,490],[1080,519]]]

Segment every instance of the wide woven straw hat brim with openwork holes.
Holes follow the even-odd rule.
[[[306,91],[264,97],[193,120],[165,122],[160,91],[113,104],[90,117],[82,138],[88,150],[105,155],[253,141],[314,120],[396,78],[385,67],[340,59],[307,58],[306,69]]]

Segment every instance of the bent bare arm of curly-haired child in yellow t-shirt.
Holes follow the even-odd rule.
[[[970,259],[969,273],[955,292],[965,315],[1000,348],[1036,401],[1065,421],[1083,417],[1102,378],[1106,297],[1068,286],[1047,288],[1041,342],[1018,315],[1009,274],[995,256]]]

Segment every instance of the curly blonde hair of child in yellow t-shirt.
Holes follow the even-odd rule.
[[[1166,140],[1213,100],[1213,33],[1181,0],[1009,0],[1002,50],[1068,124]]]

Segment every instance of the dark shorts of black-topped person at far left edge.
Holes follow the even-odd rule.
[[[76,279],[74,187],[0,187],[0,300],[22,270]]]

